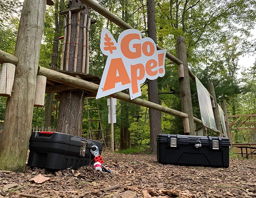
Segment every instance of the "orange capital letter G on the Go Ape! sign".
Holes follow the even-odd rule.
[[[133,48],[135,49],[135,52],[131,52],[129,48],[129,43],[133,39],[139,39],[139,34],[128,34],[123,37],[121,40],[121,51],[123,55],[128,59],[137,59],[141,57],[141,44],[133,44]]]

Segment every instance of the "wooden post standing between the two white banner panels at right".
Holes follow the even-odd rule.
[[[218,105],[217,105],[218,103],[217,103],[217,99],[216,99],[216,94],[215,94],[213,82],[208,83],[208,90],[209,90],[209,93],[214,98],[215,107],[213,107],[213,115],[214,115],[214,119],[215,119],[215,123],[216,123],[216,128],[217,128],[217,130],[219,130],[221,132],[220,134],[217,134],[217,135],[222,136],[222,128],[221,128],[221,123],[220,123],[220,113],[219,113],[219,109],[218,109]]]

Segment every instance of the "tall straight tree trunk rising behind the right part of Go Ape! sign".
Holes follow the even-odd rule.
[[[156,40],[156,10],[154,0],[147,0],[147,33],[148,37]],[[149,101],[159,104],[158,86],[156,80],[148,80]],[[149,109],[149,125],[150,125],[150,150],[156,153],[156,136],[162,133],[161,112]]]

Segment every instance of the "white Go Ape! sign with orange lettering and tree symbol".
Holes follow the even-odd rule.
[[[140,84],[146,78],[155,80],[165,74],[166,50],[156,50],[154,41],[142,38],[138,30],[123,31],[116,42],[104,28],[100,49],[108,58],[96,99],[126,89],[130,91],[130,99],[135,99],[141,96]]]

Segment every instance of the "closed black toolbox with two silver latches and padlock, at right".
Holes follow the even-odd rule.
[[[159,134],[156,141],[161,164],[229,167],[230,141],[226,137]]]

